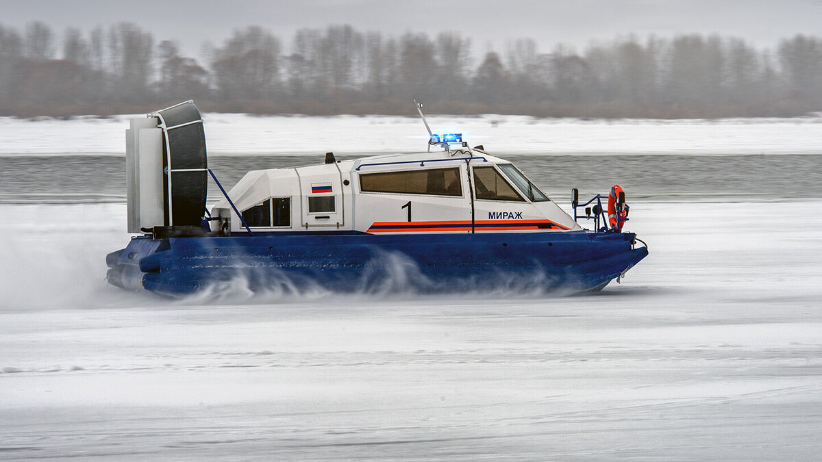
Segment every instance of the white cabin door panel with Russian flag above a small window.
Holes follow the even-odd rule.
[[[337,164],[298,170],[302,229],[339,229],[345,224],[342,178]]]

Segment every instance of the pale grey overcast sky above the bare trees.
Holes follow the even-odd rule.
[[[822,0],[0,0],[0,24],[22,28],[44,21],[62,36],[67,26],[132,21],[155,39],[176,39],[199,58],[201,44],[218,45],[232,30],[261,25],[283,39],[303,27],[350,24],[388,35],[458,31],[475,53],[504,51],[511,39],[536,39],[540,51],[635,34],[735,36],[758,48],[797,34],[822,36]]]

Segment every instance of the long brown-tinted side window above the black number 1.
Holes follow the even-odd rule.
[[[363,192],[462,196],[459,167],[409,170],[405,172],[363,173],[359,178],[360,190]]]

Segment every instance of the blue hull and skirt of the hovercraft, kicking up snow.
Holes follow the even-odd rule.
[[[241,278],[248,289],[419,292],[601,289],[648,255],[634,233],[374,235],[270,233],[132,238],[107,257],[110,284],[171,296]],[[534,287],[538,286],[538,287]]]

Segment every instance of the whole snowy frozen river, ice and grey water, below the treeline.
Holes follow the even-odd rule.
[[[227,186],[425,141],[411,118],[205,120]],[[126,117],[0,118],[0,459],[819,458],[820,114],[431,122],[566,209],[619,182],[649,256],[564,298],[420,297],[402,273],[357,296],[127,293],[104,282]]]

